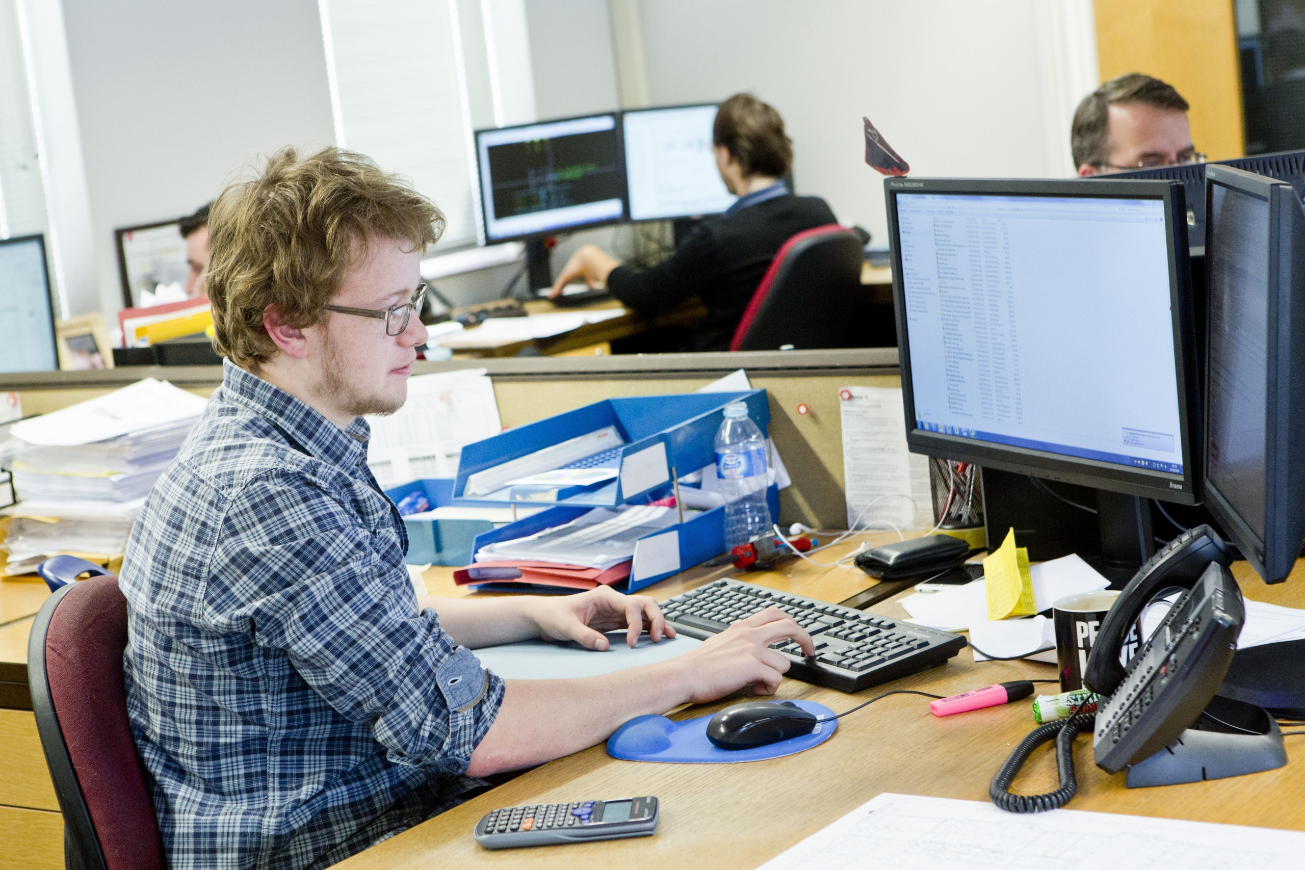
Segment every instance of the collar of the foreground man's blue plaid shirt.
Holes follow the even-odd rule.
[[[356,466],[367,458],[372,429],[363,417],[341,429],[320,411],[231,360],[222,360],[222,389],[232,400],[269,420],[311,457],[343,467]]]

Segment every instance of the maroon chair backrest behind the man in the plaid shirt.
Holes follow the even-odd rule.
[[[61,587],[31,627],[31,708],[64,814],[69,869],[167,866],[127,721],[125,648],[127,599],[112,575]]]

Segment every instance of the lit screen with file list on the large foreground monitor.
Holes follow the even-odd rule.
[[[917,429],[1182,480],[1161,200],[895,201]]]

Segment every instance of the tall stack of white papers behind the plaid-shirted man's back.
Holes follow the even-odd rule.
[[[120,553],[205,404],[146,378],[16,424],[7,453],[18,503],[3,511],[17,518],[3,544],[10,573],[55,553]]]

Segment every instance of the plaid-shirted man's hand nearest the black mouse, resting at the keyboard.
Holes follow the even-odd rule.
[[[748,685],[756,695],[774,694],[790,661],[770,644],[784,639],[796,640],[803,652],[816,655],[812,637],[791,616],[770,607],[679,656],[692,674],[689,700],[706,703]]]

